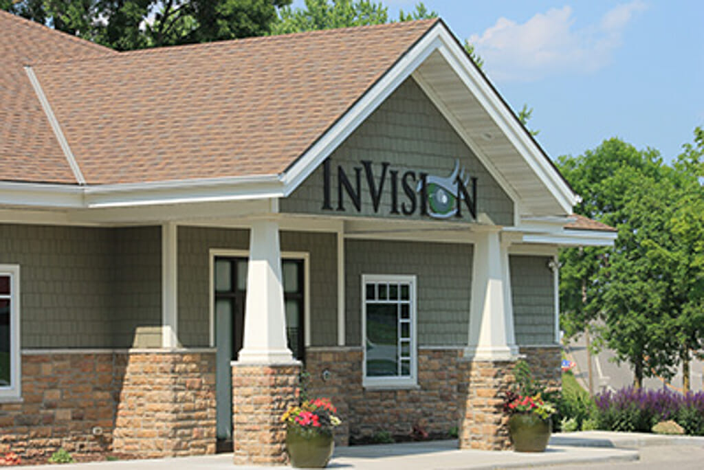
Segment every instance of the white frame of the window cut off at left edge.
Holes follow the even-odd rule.
[[[20,360],[20,267],[0,265],[0,276],[10,277],[10,386],[0,386],[0,402],[20,400],[22,396]],[[8,298],[8,296],[0,296]]]

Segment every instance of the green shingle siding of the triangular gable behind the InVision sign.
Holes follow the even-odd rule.
[[[371,160],[374,165],[377,187],[381,179],[382,162],[391,164],[390,170],[400,170],[399,179],[404,171],[427,172],[438,177],[448,177],[460,160],[468,175],[477,177],[477,212],[484,212],[498,225],[513,225],[513,201],[501,189],[491,174],[458,136],[455,130],[441,115],[425,93],[413,79],[403,82],[394,93],[382,103],[377,110],[356,129],[346,141],[337,148],[331,160],[331,196],[332,208],[337,208],[337,165],[342,165],[353,186],[353,167],[360,166],[360,160]],[[428,220],[416,210],[412,216],[393,215],[389,174],[386,175],[384,193],[375,212],[367,191],[364,172],[361,177],[360,212],[356,212],[349,198],[345,195],[346,212],[322,210],[323,170],[318,167],[308,179],[288,198],[279,202],[282,212],[302,212],[335,216],[390,217]],[[415,185],[414,185],[415,189]],[[420,198],[420,196],[419,196]],[[406,201],[401,182],[398,182],[398,203]],[[400,207],[399,207],[400,210]],[[463,220],[470,221],[465,208]]]

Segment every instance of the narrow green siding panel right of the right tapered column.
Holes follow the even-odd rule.
[[[511,293],[516,343],[555,343],[555,288],[548,256],[511,255]]]

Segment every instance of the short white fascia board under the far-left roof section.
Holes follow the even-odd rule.
[[[70,184],[0,182],[0,205],[80,208],[83,189]]]

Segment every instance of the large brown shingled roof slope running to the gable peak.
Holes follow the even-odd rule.
[[[435,24],[147,49],[33,70],[88,184],[280,174]]]

